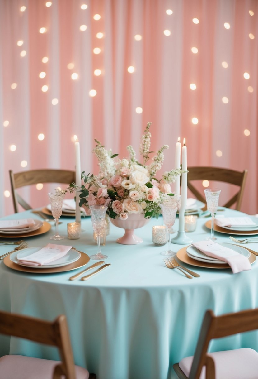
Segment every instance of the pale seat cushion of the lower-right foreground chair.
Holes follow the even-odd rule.
[[[208,353],[215,363],[216,379],[257,379],[258,352],[253,349],[236,349]],[[183,358],[179,367],[188,377],[190,374],[193,356]],[[205,366],[202,368],[200,379],[205,379]]]

